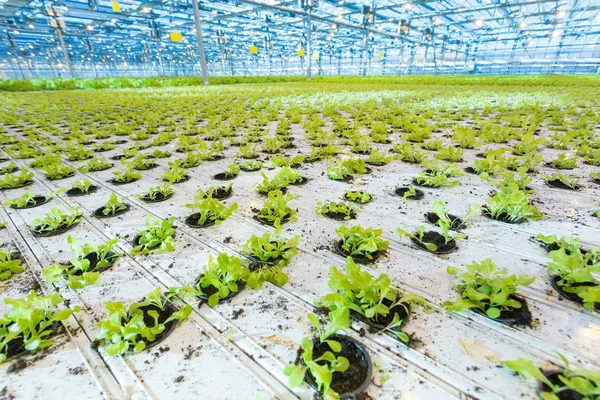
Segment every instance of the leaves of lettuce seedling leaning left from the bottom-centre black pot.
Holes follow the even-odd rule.
[[[326,344],[331,351],[326,351],[320,357],[314,358],[314,342],[311,338],[302,339],[302,364],[288,364],[283,373],[289,377],[289,386],[296,387],[302,384],[304,376],[309,372],[316,384],[317,390],[325,399],[337,399],[338,394],[331,389],[333,374],[344,372],[350,367],[350,362],[343,356],[336,356],[342,351],[342,346],[335,340],[328,340],[328,337],[341,329],[349,326],[349,312],[347,308],[342,308],[329,313],[330,324],[327,328],[321,328],[319,319],[315,314],[308,314],[308,320],[311,325],[319,332],[319,342]]]

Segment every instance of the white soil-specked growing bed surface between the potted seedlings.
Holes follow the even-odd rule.
[[[272,132],[276,123],[269,125]],[[8,132],[14,132],[7,128]],[[304,130],[292,126],[297,149],[287,151],[308,153]],[[394,137],[394,136],[392,136]],[[126,147],[128,144],[120,145]],[[388,150],[391,145],[376,145]],[[178,157],[173,145],[164,147]],[[345,260],[335,254],[332,243],[334,229],[341,223],[314,212],[317,201],[338,200],[350,188],[367,189],[375,201],[362,206],[356,220],[348,224],[380,227],[383,237],[391,241],[388,255],[366,267],[374,275],[388,274],[395,285],[425,297],[436,305],[454,299],[454,280],[445,270],[448,265],[462,266],[472,260],[492,258],[511,273],[535,276],[536,282],[520,290],[527,299],[534,317],[532,327],[513,328],[501,325],[472,312],[455,314],[444,311],[426,314],[415,307],[405,331],[418,340],[406,347],[395,338],[376,335],[353,322],[348,333],[364,343],[379,366],[374,369],[368,394],[377,399],[441,399],[441,398],[536,398],[534,383],[498,368],[500,360],[526,357],[537,365],[551,367],[549,361],[560,364],[556,352],[572,362],[597,368],[600,360],[600,325],[598,313],[584,310],[575,303],[560,299],[550,285],[545,269],[546,252],[530,238],[537,233],[577,235],[586,247],[600,243],[599,220],[591,216],[600,195],[598,185],[585,181],[580,192],[554,189],[543,183],[541,175],[531,185],[535,189],[536,205],[547,219],[519,225],[477,217],[465,230],[468,240],[459,243],[459,250],[447,256],[435,256],[416,249],[410,241],[400,238],[396,227],[413,230],[424,221],[435,199],[445,200],[452,214],[464,215],[468,205],[484,204],[493,186],[475,175],[460,178],[453,188],[424,189],[421,201],[402,203],[393,195],[398,186],[408,185],[420,171],[417,166],[395,161],[376,167],[370,175],[356,176],[353,184],[328,180],[322,173],[326,162],[303,164],[303,174],[311,180],[303,186],[290,186],[294,195],[291,205],[298,209],[298,221],[284,226],[284,235],[300,235],[299,254],[292,258],[285,271],[289,282],[283,287],[265,284],[262,290],[246,289],[215,308],[197,307],[174,333],[156,347],[137,355],[109,357],[96,352],[90,345],[96,335],[96,323],[105,315],[104,302],[137,301],[152,288],[193,283],[210,254],[227,251],[239,253],[240,246],[252,234],[272,231],[255,221],[252,208],[260,208],[264,198],[253,185],[261,180],[260,172],[242,172],[233,186],[233,196],[227,204],[238,202],[240,209],[220,226],[193,229],[183,223],[190,214],[183,205],[198,188],[220,185],[212,176],[221,172],[234,159],[237,148],[230,147],[223,160],[205,162],[188,170],[192,179],[175,185],[175,196],[165,202],[147,204],[133,195],[143,193],[160,183],[160,175],[169,159],[158,159],[160,168],[142,171],[142,179],[123,186],[107,181],[108,171],[85,174],[100,190],[83,197],[60,197],[40,207],[26,210],[5,209],[1,220],[10,221],[8,229],[0,231],[0,240],[13,243],[23,254],[26,272],[3,282],[2,298],[23,296],[29,289],[41,285],[44,292],[60,290],[70,305],[83,310],[66,321],[66,331],[55,336],[52,348],[22,358],[20,367],[11,372],[14,362],[0,367],[1,396],[16,398],[64,399],[89,398],[185,398],[201,396],[208,399],[270,399],[312,398],[314,393],[304,385],[290,390],[283,367],[293,362],[303,336],[310,334],[306,315],[314,311],[313,300],[329,292],[327,280],[332,265],[343,269]],[[104,153],[112,156],[114,150]],[[477,151],[467,150],[465,162],[470,165]],[[556,151],[544,149],[549,160]],[[25,160],[26,161],[26,160]],[[17,160],[25,166],[23,160]],[[67,162],[68,163],[68,162]],[[73,163],[76,166],[84,162]],[[118,164],[118,163],[117,163]],[[578,173],[588,176],[595,167],[580,164]],[[269,176],[276,170],[266,171]],[[543,172],[550,169],[542,167]],[[33,189],[44,194],[68,187],[84,174],[60,181],[48,181],[38,171]],[[2,201],[19,195],[25,189],[6,191]],[[108,199],[111,192],[128,196],[131,210],[120,217],[96,219],[91,214]],[[86,212],[81,223],[68,233],[49,238],[34,238],[28,225],[52,207],[79,205]],[[152,213],[159,218],[176,217],[176,250],[167,254],[150,254],[132,258],[131,239],[143,229],[144,217]],[[101,243],[120,236],[120,251],[124,256],[115,266],[102,273],[99,282],[80,291],[64,283],[48,285],[41,281],[40,270],[51,262],[66,260],[68,234],[81,242]],[[6,305],[0,303],[0,312]],[[360,334],[364,334],[363,337]],[[383,385],[384,374],[389,375]]]

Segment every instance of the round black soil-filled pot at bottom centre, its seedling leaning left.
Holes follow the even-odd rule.
[[[333,374],[331,389],[338,393],[340,399],[359,398],[358,396],[367,390],[373,374],[373,366],[367,349],[346,335],[331,335],[328,339],[335,340],[342,346],[342,350],[336,355],[343,356],[350,362],[350,367],[346,371]],[[313,344],[313,359],[331,351],[329,345],[321,343],[318,338],[313,340]],[[317,382],[310,371],[307,371],[304,378],[313,389],[318,390]]]

